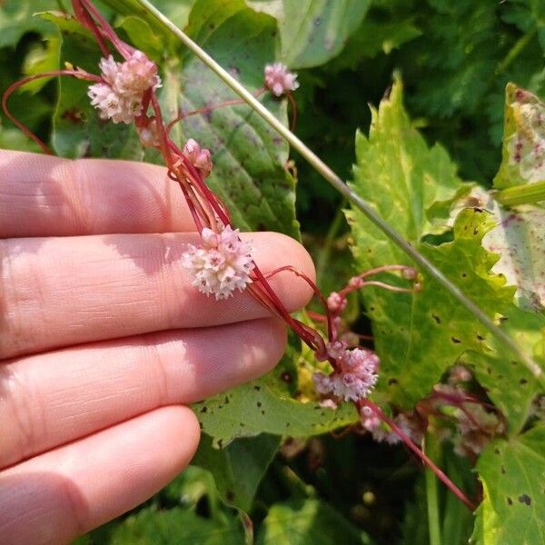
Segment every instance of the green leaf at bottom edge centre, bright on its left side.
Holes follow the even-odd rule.
[[[257,545],[371,544],[372,540],[320,500],[275,503],[257,534]]]

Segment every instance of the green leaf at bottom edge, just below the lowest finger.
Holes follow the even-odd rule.
[[[147,508],[131,515],[115,526],[109,545],[241,545],[242,524],[234,517],[209,520],[191,510]]]

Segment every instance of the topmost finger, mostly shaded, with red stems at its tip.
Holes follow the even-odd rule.
[[[0,238],[194,230],[161,166],[0,150]]]

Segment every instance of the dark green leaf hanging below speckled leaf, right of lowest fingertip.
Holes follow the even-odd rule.
[[[214,449],[212,438],[203,434],[192,464],[212,473],[225,503],[249,511],[279,445],[279,437],[263,434],[236,439],[223,449]]]

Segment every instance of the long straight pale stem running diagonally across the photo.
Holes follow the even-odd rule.
[[[510,338],[510,336],[500,330],[500,328],[490,320],[490,318],[481,311],[479,306],[471,301],[461,290],[453,284],[433,263],[428,261],[420,252],[415,250],[410,243],[398,233],[391,225],[385,222],[381,216],[375,212],[372,205],[366,203],[360,195],[354,193],[352,189],[342,181],[342,179],[332,171],[332,169],[325,163],[318,155],[314,154],[312,150],[290,131],[289,128],[284,126],[263,104],[261,104],[247,89],[243,87],[236,79],[233,78],[223,67],[216,63],[213,58],[207,54],[199,45],[195,44],[193,40],[183,33],[173,22],[165,17],[154,5],[150,4],[148,0],[134,0],[134,3],[144,7],[144,10],[153,15],[154,18],[164,25],[176,38],[178,38],[183,45],[185,45],[196,57],[201,59],[210,70],[212,70],[233,91],[243,98],[244,102],[251,106],[253,110],[261,115],[263,119],[272,126],[272,128],[283,136],[293,149],[297,150],[308,163],[318,172],[321,173],[332,186],[337,189],[344,197],[346,197],[356,208],[358,208],[363,214],[374,223],[382,233],[401,248],[401,250],[409,255],[415,263],[421,267],[425,272],[428,272],[430,276],[451,293],[451,295],[457,299],[461,304],[470,311],[482,325],[491,332],[497,339],[500,340],[511,352],[517,355],[520,362],[522,362],[528,370],[536,377],[541,386],[545,388],[545,378],[540,366],[534,362],[530,356],[526,355],[520,350],[519,345]]]

